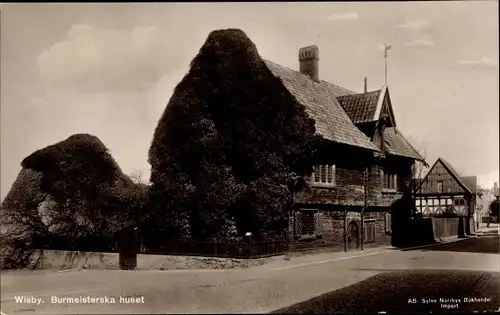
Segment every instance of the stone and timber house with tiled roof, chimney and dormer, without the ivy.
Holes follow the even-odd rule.
[[[325,139],[295,196],[295,244],[348,250],[390,242],[393,205],[410,189],[415,161],[425,161],[397,129],[388,87],[369,92],[365,79],[356,93],[321,80],[315,45],[299,50],[300,71],[265,62]]]

